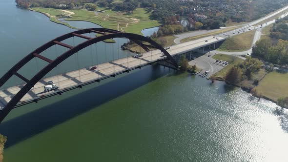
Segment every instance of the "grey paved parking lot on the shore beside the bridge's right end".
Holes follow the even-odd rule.
[[[209,56],[210,55],[210,56]],[[201,68],[202,71],[200,73],[203,73],[205,71],[209,71],[209,75],[207,75],[207,77],[211,76],[212,74],[220,71],[221,69],[223,69],[225,66],[221,66],[219,62],[216,62],[216,60],[212,59],[212,56],[214,56],[215,54],[210,54],[210,52],[206,53],[205,55],[189,61],[190,65],[196,65],[198,68]],[[209,57],[208,57],[209,56]]]

